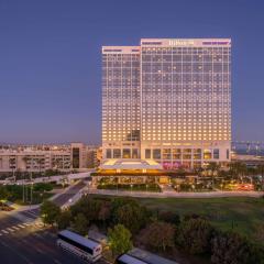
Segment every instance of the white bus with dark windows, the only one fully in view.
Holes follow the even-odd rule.
[[[85,261],[96,262],[101,257],[102,246],[100,243],[86,239],[69,230],[58,233],[57,245],[69,251]]]

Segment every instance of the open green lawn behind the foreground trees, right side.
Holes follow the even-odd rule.
[[[264,224],[263,198],[145,198],[139,201],[147,208],[175,211],[180,216],[202,215],[213,226],[222,230],[234,229],[251,239],[254,239],[258,224]]]

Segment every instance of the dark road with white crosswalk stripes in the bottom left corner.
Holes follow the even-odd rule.
[[[81,263],[56,246],[56,234],[35,221],[0,216],[0,256],[4,264]]]

